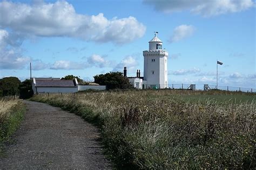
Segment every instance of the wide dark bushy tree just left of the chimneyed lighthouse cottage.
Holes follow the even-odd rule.
[[[94,82],[99,85],[105,85],[106,89],[130,89],[132,85],[129,79],[123,76],[121,72],[109,72],[99,74],[93,77]]]

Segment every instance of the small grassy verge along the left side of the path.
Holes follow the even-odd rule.
[[[3,143],[17,130],[23,119],[25,107],[19,100],[0,100],[0,154],[3,153]]]

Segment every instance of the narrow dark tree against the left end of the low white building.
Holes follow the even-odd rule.
[[[19,85],[19,98],[28,99],[33,96],[33,90],[30,79],[25,79]]]

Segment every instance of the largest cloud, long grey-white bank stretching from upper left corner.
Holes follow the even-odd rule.
[[[66,36],[93,42],[124,44],[144,35],[134,17],[107,19],[103,13],[81,15],[72,4],[0,2],[0,27],[34,36]]]

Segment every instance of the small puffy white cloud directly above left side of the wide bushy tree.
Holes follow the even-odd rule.
[[[110,67],[112,65],[112,61],[104,59],[102,56],[99,55],[92,55],[87,59],[87,62],[91,66],[96,66],[96,67]]]

